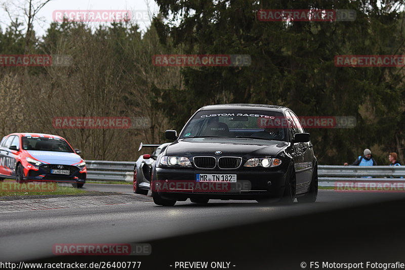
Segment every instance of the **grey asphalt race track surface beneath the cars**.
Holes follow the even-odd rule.
[[[87,190],[132,192],[131,185],[85,186]],[[405,198],[405,194],[319,190],[315,204],[295,203],[292,206],[212,200],[207,206],[190,201],[178,202],[174,207],[142,202],[3,213],[0,214],[0,260],[20,261],[52,256],[52,247],[57,243],[148,243],[173,236],[401,198]]]

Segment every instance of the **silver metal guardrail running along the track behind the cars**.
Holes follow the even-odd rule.
[[[132,182],[135,161],[87,160],[86,165],[88,180]],[[337,181],[405,181],[400,177],[405,177],[405,166],[318,166],[319,186],[332,187]]]

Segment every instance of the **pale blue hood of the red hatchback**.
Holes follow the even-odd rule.
[[[32,158],[49,164],[72,165],[82,160],[76,153],[36,150],[28,150],[27,152]]]

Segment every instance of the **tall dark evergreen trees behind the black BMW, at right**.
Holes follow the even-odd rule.
[[[362,149],[401,155],[403,70],[391,67],[336,67],[345,54],[402,54],[402,1],[168,1],[157,0],[170,35],[184,53],[250,54],[249,67],[182,70],[185,91],[166,94],[161,108],[180,128],[206,104],[264,103],[292,108],[298,115],[352,115],[354,129],[312,129],[320,164],[354,160]],[[381,5],[378,5],[381,2]],[[259,9],[352,9],[352,22],[264,22]],[[170,104],[180,101],[181,108]],[[400,141],[396,145],[396,136]]]

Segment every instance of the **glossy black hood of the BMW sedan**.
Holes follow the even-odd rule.
[[[260,139],[217,139],[189,138],[181,139],[166,148],[167,156],[215,156],[215,151],[222,151],[221,156],[276,156],[289,143]]]

